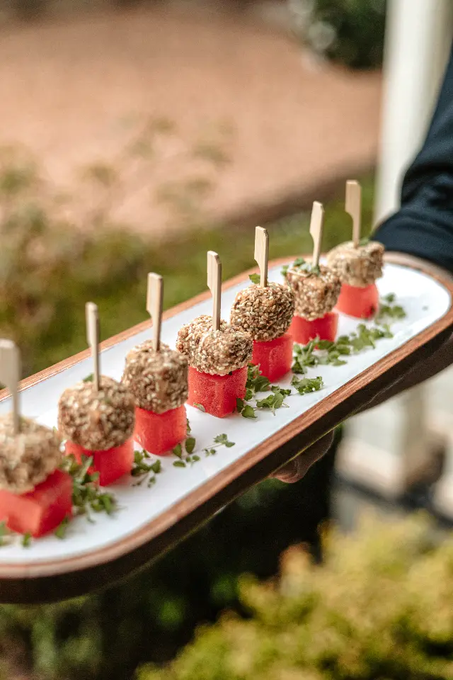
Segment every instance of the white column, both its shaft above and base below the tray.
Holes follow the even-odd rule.
[[[376,222],[399,207],[403,173],[435,106],[452,27],[452,0],[388,2]],[[426,407],[425,390],[418,387],[351,419],[338,457],[340,472],[384,495],[403,493],[430,465]]]

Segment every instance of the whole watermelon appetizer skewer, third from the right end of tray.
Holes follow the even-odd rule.
[[[236,295],[230,323],[251,335],[252,363],[271,382],[291,370],[292,336],[287,333],[294,314],[294,295],[287,285],[268,283],[269,236],[256,227],[255,259],[260,268],[259,285],[252,284]]]

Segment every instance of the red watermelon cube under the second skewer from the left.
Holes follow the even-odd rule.
[[[82,459],[93,458],[93,465],[88,472],[99,473],[99,484],[108,487],[117,482],[120,477],[130,474],[134,464],[134,439],[130,437],[120,446],[108,448],[105,451],[90,451],[73,441],[67,441],[65,445],[67,455],[74,455],[77,463]]]

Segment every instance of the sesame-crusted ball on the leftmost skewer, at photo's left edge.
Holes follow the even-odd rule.
[[[25,494],[44,482],[62,461],[61,439],[55,430],[21,418],[13,433],[11,413],[0,417],[0,489]]]

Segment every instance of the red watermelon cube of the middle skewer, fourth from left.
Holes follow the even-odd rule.
[[[189,367],[188,404],[197,404],[217,418],[224,418],[236,411],[236,399],[246,396],[247,367],[238,368],[229,375],[200,373]]]

